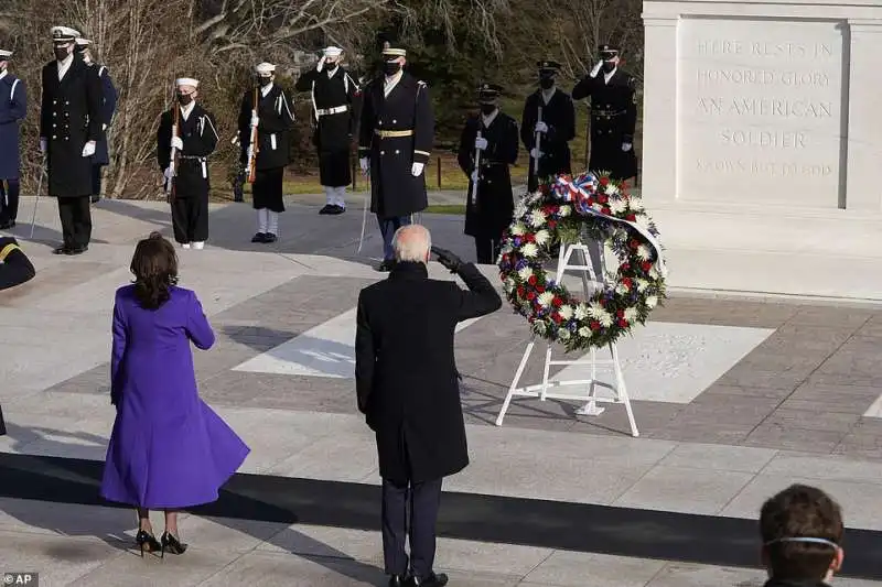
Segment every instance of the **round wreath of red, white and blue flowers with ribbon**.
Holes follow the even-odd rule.
[[[639,197],[609,175],[559,175],[527,194],[503,236],[506,297],[533,331],[567,351],[601,348],[630,333],[665,297],[667,270],[658,231]],[[580,300],[545,264],[564,246],[605,242],[619,259],[613,278]]]

